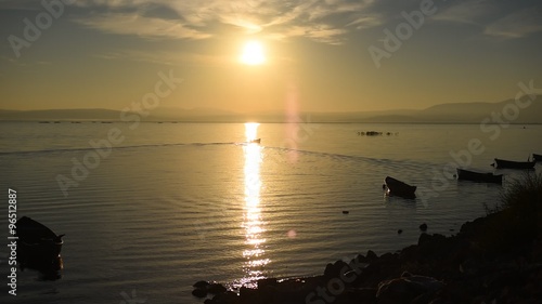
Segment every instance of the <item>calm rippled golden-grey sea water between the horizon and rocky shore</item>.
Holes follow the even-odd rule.
[[[66,234],[62,278],[17,269],[16,303],[203,303],[191,295],[197,280],[237,288],[321,274],[336,260],[415,243],[422,223],[457,233],[522,174],[495,171],[493,158],[542,153],[542,125],[499,134],[478,124],[1,128],[1,239],[8,243],[9,188],[18,217]],[[247,144],[251,137],[261,144]],[[457,182],[454,167],[503,173],[505,183]],[[386,197],[388,175],[418,186],[418,197]],[[10,252],[1,248],[5,287]]]

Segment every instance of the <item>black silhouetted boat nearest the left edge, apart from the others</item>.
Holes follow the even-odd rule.
[[[55,263],[62,250],[64,235],[56,235],[46,225],[30,217],[21,217],[16,226],[17,260],[22,264],[48,265]]]

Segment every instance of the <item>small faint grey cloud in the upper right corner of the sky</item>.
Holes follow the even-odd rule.
[[[541,13],[529,8],[489,24],[483,34],[501,38],[521,38],[539,31],[542,31]]]

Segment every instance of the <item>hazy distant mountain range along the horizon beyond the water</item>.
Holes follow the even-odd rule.
[[[527,103],[528,97],[521,101]],[[421,110],[398,109],[350,113],[301,113],[297,120],[311,122],[386,122],[386,123],[479,123],[486,119],[499,123],[498,117],[511,123],[542,123],[542,95],[520,108],[514,100],[500,103],[440,104]],[[125,114],[126,115],[126,114]],[[2,110],[0,120],[35,121],[120,121],[121,113],[112,109],[49,109]],[[292,120],[284,113],[240,114],[215,108],[157,108],[143,121],[194,121],[194,122],[284,122]]]

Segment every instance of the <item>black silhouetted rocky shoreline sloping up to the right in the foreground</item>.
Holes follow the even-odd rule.
[[[467,222],[451,237],[424,233],[395,253],[369,251],[327,264],[321,276],[264,279],[257,289],[222,291],[204,303],[542,303],[540,225],[509,232],[499,228],[502,221],[492,214]]]

